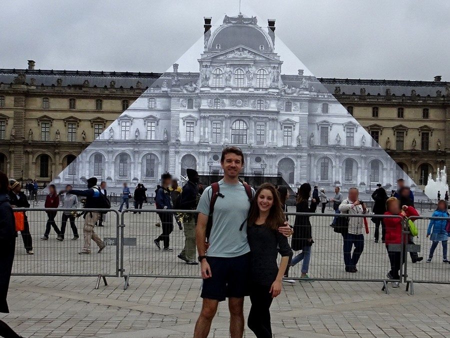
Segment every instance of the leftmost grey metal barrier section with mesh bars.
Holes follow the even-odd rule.
[[[106,245],[101,253],[97,253],[98,247],[95,242],[91,242],[91,254],[78,254],[83,248],[83,217],[75,218],[75,227],[79,238],[75,238],[74,230],[71,228],[68,219],[65,226],[63,240],[57,239],[56,230],[50,223],[48,239],[44,237],[45,228],[48,222],[46,211],[56,212],[54,218],[55,226],[61,230],[63,211],[89,212],[93,209],[45,209],[45,208],[14,208],[14,212],[23,211],[27,216],[29,225],[29,235],[19,232],[16,245],[15,256],[12,268],[14,275],[57,275],[57,276],[97,276],[96,288],[103,278],[106,284],[106,276],[118,276],[119,267],[119,247],[118,247],[118,221],[119,214],[115,210],[102,209],[107,211],[103,215],[103,226],[96,226],[94,231],[99,235]],[[99,209],[95,209],[99,211]],[[60,233],[61,234],[61,233]],[[89,238],[89,241],[91,239]],[[33,254],[28,254],[32,250]]]

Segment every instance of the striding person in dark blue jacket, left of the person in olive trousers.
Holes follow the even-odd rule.
[[[173,209],[172,199],[170,198],[169,185],[172,181],[172,175],[165,173],[161,175],[161,188],[156,192],[156,208],[160,210]],[[153,240],[156,247],[160,250],[159,242],[162,241],[164,251],[173,251],[169,248],[169,235],[173,231],[173,214],[160,212],[158,216],[161,220],[162,233]]]

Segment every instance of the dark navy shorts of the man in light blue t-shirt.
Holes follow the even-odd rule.
[[[203,279],[201,298],[225,300],[249,294],[250,253],[237,257],[207,257],[212,277]]]

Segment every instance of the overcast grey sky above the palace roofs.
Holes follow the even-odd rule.
[[[204,16],[221,22],[238,3],[2,1],[0,68],[32,59],[40,69],[163,72],[201,37]],[[242,0],[242,13],[262,27],[276,19],[277,38],[317,77],[450,81],[448,0]]]

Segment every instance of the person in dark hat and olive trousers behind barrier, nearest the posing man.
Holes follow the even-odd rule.
[[[193,169],[186,169],[188,181],[183,186],[179,200],[179,209],[195,210],[197,208],[200,195],[198,194],[197,183],[199,181],[198,173]],[[184,248],[178,255],[178,258],[184,260],[186,264],[197,265],[195,260],[195,224],[196,216],[193,213],[185,213],[183,216],[184,223]]]

